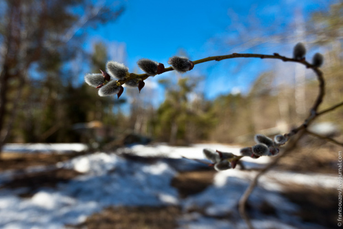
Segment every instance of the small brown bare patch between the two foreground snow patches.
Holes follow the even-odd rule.
[[[215,176],[213,168],[203,168],[197,171],[182,171],[171,180],[171,186],[178,189],[181,198],[194,195],[205,190],[213,184]]]

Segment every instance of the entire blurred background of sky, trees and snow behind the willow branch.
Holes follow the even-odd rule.
[[[324,55],[343,98],[343,1],[0,0],[1,228],[245,228],[237,201],[269,158],[216,173],[182,159],[287,133],[318,94],[314,72],[235,58],[167,72],[99,97],[84,83],[108,60],[255,53]],[[343,109],[310,127],[342,142]],[[250,197],[257,228],[337,226],[342,146],[305,136]],[[96,188],[96,190],[95,190]],[[282,205],[282,206],[281,206]],[[162,219],[162,220],[161,220]]]

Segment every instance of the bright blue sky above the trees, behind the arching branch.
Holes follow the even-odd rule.
[[[151,58],[166,66],[170,56],[180,50],[193,60],[210,55],[234,52],[280,52],[292,55],[293,44],[268,42],[273,34],[283,32],[294,23],[295,12],[307,21],[314,10],[328,10],[333,1],[275,0],[275,1],[124,1],[125,12],[117,21],[89,30],[84,47],[91,51],[96,41],[119,44],[126,49],[126,65],[135,69],[139,58]],[[254,26],[252,26],[254,25]],[[255,28],[250,30],[250,28]],[[239,37],[241,32],[247,35]],[[256,36],[265,42],[253,48],[246,44]],[[228,41],[238,44],[233,45]],[[241,48],[241,50],[240,50]],[[110,49],[109,49],[110,50]],[[288,52],[285,52],[288,50]],[[244,63],[244,67],[241,64]],[[272,67],[261,60],[196,65],[192,74],[206,76],[202,88],[206,98],[215,98],[230,91],[247,92],[259,73]],[[190,72],[190,73],[191,73]],[[173,77],[174,74],[167,76]],[[154,80],[155,78],[147,79]],[[159,90],[163,94],[163,90]]]

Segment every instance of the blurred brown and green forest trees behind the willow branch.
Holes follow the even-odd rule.
[[[103,12],[93,15],[97,6],[91,2],[57,2],[8,1],[8,15],[1,16],[7,19],[0,25],[1,51],[6,53],[1,58],[0,78],[2,142],[86,142],[100,143],[93,144],[99,147],[134,133],[169,144],[239,144],[255,133],[274,135],[300,123],[318,93],[314,76],[302,69],[279,74],[285,70],[276,65],[260,74],[247,94],[209,100],[198,89],[206,76],[185,74],[156,76],[165,89],[165,100],[158,107],[151,101],[156,92],[148,87],[141,94],[138,89],[126,89],[119,100],[99,97],[95,89],[78,83],[78,78],[84,65],[89,72],[105,69],[108,50],[99,42],[93,45],[93,53],[82,51],[82,31],[71,31],[82,16],[68,9],[86,4],[86,25],[95,26],[117,19],[123,8],[102,8]],[[320,46],[326,50],[322,70],[328,91],[323,109],[343,98],[342,11],[341,2],[329,12],[316,12],[303,24],[308,49]],[[32,20],[30,25],[23,23],[26,19]],[[68,32],[72,35],[66,38]],[[78,63],[80,59],[86,64]],[[294,75],[296,80],[289,80]],[[343,111],[338,109],[320,121],[335,122],[343,131],[342,118]]]

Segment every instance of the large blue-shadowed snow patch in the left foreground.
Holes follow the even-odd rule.
[[[43,188],[30,199],[1,190],[0,228],[63,228],[64,223],[79,223],[106,206],[178,203],[177,190],[170,186],[176,171],[163,162],[142,164],[95,153],[60,167],[86,173],[57,190]]]

